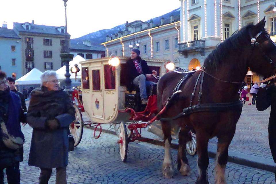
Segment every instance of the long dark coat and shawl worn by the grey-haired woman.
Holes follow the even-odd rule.
[[[47,119],[57,119],[60,127],[51,130]],[[68,94],[62,89],[34,89],[30,94],[27,122],[33,127],[28,164],[39,168],[68,165],[68,126],[75,119],[75,110]]]

